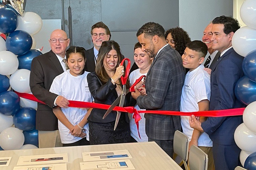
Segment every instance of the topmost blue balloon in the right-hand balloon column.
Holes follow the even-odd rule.
[[[256,50],[246,55],[242,67],[245,75],[256,82]]]

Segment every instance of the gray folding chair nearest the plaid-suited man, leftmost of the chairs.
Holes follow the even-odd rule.
[[[186,161],[189,154],[189,137],[178,130],[174,133],[173,151],[182,158],[185,169],[188,170]]]

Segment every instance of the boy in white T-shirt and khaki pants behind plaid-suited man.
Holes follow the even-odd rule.
[[[185,76],[182,88],[180,111],[181,112],[197,112],[209,110],[210,103],[210,74],[204,70],[201,65],[207,54],[207,46],[199,40],[189,42],[186,45],[184,54],[182,55],[183,66],[189,68],[189,72]],[[203,122],[206,117],[201,117]],[[189,116],[181,116],[181,125],[183,133],[189,137],[189,147],[198,146],[206,154],[208,154],[208,170],[214,168],[212,155],[212,141],[209,136],[198,130],[194,130],[189,125]]]

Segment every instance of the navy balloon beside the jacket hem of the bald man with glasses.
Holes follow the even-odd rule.
[[[36,127],[36,110],[30,107],[20,108],[13,116],[13,124],[22,131],[29,131]]]

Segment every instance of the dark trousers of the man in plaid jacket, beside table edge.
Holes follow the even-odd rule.
[[[162,150],[164,150],[167,155],[169,155],[171,158],[173,158],[173,140],[154,140],[151,138],[148,138],[149,142],[156,142]]]

